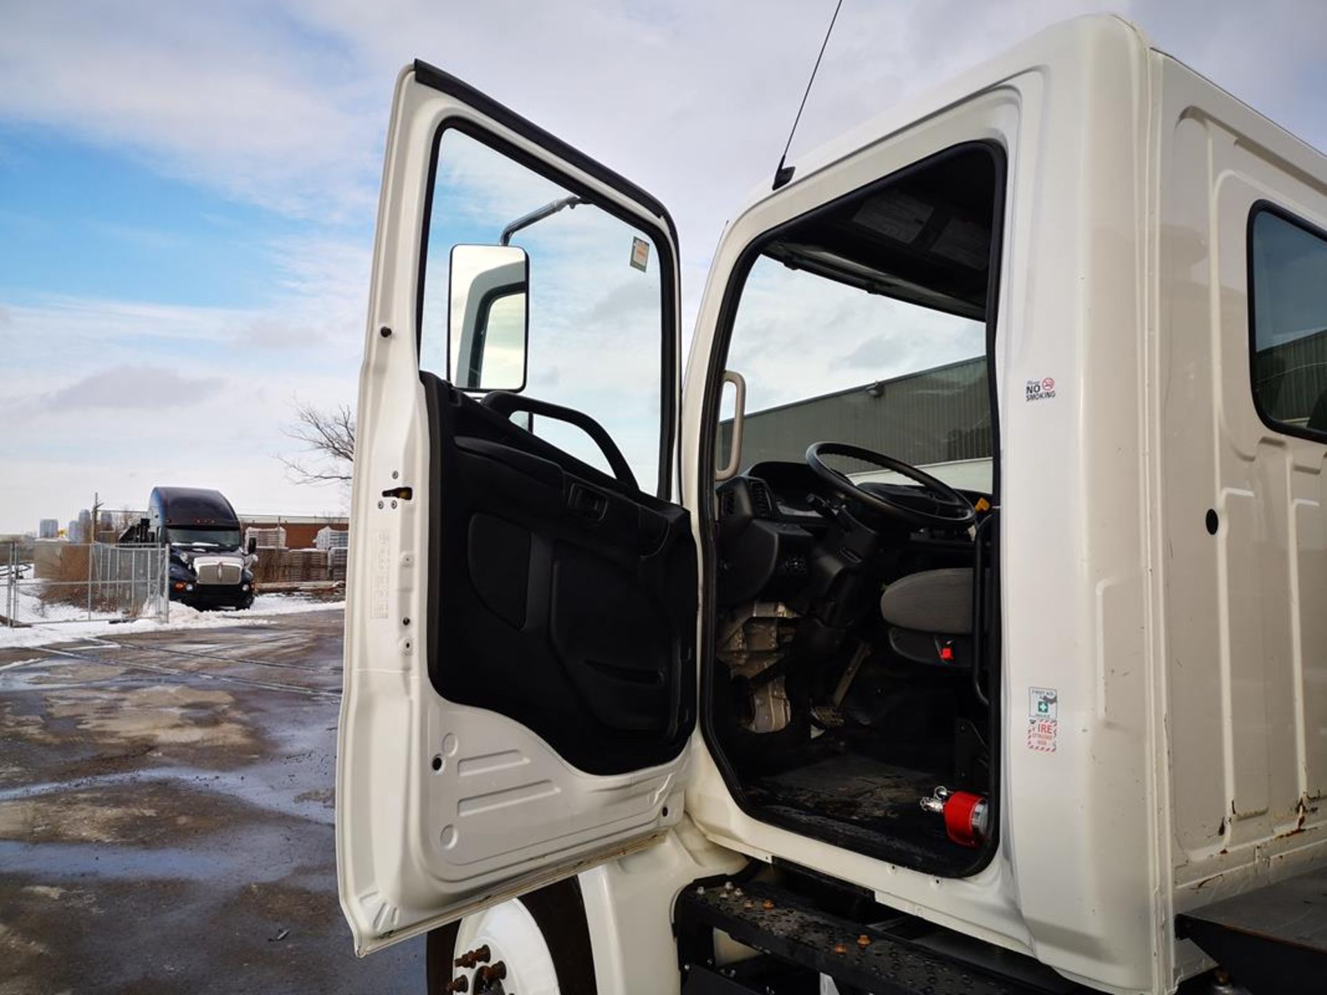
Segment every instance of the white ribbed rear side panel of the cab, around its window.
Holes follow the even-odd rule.
[[[1161,80],[1161,574],[1182,910],[1327,858],[1327,444],[1259,418],[1249,301],[1250,216],[1271,202],[1327,227],[1327,161],[1170,60]]]

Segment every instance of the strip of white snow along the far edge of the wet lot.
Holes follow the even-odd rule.
[[[45,620],[81,618],[86,616],[72,605],[48,605]],[[158,622],[154,618],[139,618],[133,622],[113,622],[93,620],[42,625],[33,620],[28,629],[9,629],[0,625],[0,649],[11,646],[49,646],[56,642],[72,642],[88,638],[114,638],[133,633],[163,633],[178,629],[223,629],[236,625],[269,625],[267,617],[295,614],[297,612],[328,612],[345,608],[345,601],[314,601],[300,594],[259,594],[253,606],[244,612],[199,612],[178,601],[170,604],[170,618]],[[20,617],[31,617],[20,613]]]

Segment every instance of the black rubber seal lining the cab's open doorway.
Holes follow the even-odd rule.
[[[719,304],[719,317],[714,332],[714,345],[710,350],[710,366],[706,370],[705,378],[705,399],[701,415],[701,454],[698,466],[701,467],[701,474],[706,474],[706,467],[714,466],[714,443],[718,436],[717,431],[710,431],[709,426],[718,425],[719,421],[719,402],[722,397],[723,387],[723,370],[727,367],[727,353],[729,345],[733,338],[733,325],[736,318],[738,302],[742,297],[742,291],[746,287],[747,276],[751,272],[751,267],[759,257],[762,249],[775,239],[778,239],[786,230],[796,227],[808,218],[815,218],[816,215],[833,211],[836,207],[847,200],[853,200],[864,195],[871,194],[874,190],[880,190],[892,186],[914,172],[925,168],[933,167],[938,162],[943,162],[949,158],[957,155],[963,155],[974,150],[981,150],[991,157],[991,163],[995,168],[995,203],[991,210],[991,256],[990,256],[990,276],[986,289],[986,365],[987,365],[987,383],[990,385],[991,394],[991,452],[994,454],[993,475],[991,475],[991,492],[995,499],[995,505],[999,505],[999,484],[1001,484],[1001,470],[999,470],[999,391],[998,379],[995,370],[995,332],[999,320],[999,283],[1001,283],[1001,260],[1003,257],[1005,237],[1007,232],[1005,231],[1005,200],[1006,200],[1006,187],[1007,187],[1007,171],[1009,161],[1005,147],[995,141],[973,141],[962,142],[959,145],[950,146],[942,151],[933,155],[928,155],[924,159],[909,163],[901,170],[873,180],[863,187],[852,190],[841,196],[835,198],[827,203],[819,204],[817,207],[807,211],[805,214],[798,215],[783,224],[771,228],[770,231],[760,235],[760,237],[754,239],[746,248],[742,249],[742,255],[738,256],[736,263],[734,263],[733,269],[729,275],[729,283],[723,289],[723,298]],[[791,190],[792,187],[790,187]],[[998,232],[998,236],[997,236]],[[715,604],[715,590],[717,582],[714,577],[714,564],[717,563],[717,555],[714,548],[715,536],[715,520],[714,520],[714,500],[713,500],[713,484],[709,478],[703,478],[698,482],[701,490],[699,507],[697,508],[697,515],[699,516],[699,535],[701,535],[701,569],[705,573],[705,584],[702,585],[703,597],[706,598],[702,610],[702,630],[701,630],[701,646],[699,646],[699,674],[698,679],[701,682],[701,715],[699,726],[701,735],[705,739],[705,744],[714,758],[715,765],[719,768],[719,773],[723,777],[725,785],[727,785],[729,793],[736,803],[738,808],[752,819],[766,823],[768,825],[775,825],[782,829],[788,829],[803,836],[813,836],[815,838],[821,838],[835,846],[841,846],[845,850],[853,850],[855,853],[863,853],[868,857],[874,857],[877,860],[884,860],[890,864],[898,862],[898,854],[889,848],[876,848],[864,844],[855,836],[847,833],[835,833],[825,830],[824,834],[808,833],[803,823],[796,819],[786,819],[778,813],[768,812],[760,805],[755,805],[747,800],[744,792],[742,791],[740,781],[738,780],[736,772],[733,769],[733,764],[729,763],[727,758],[719,746],[718,736],[714,734],[713,710],[711,710],[711,689],[713,689],[713,667],[714,661],[714,622],[717,618],[718,606]],[[990,612],[991,628],[987,631],[987,646],[986,646],[986,659],[999,661],[999,592],[1001,592],[1001,578],[999,578],[999,555],[998,544],[993,545],[989,553],[989,564],[991,570],[991,592],[993,592],[993,606]],[[987,804],[990,805],[991,821],[990,824],[995,828],[994,832],[985,840],[981,848],[973,854],[973,862],[961,868],[957,872],[949,870],[932,870],[925,868],[917,868],[918,873],[929,873],[936,877],[971,877],[973,874],[983,870],[991,860],[994,860],[995,853],[999,850],[999,824],[1001,824],[1001,714],[999,714],[999,667],[991,666],[987,670],[987,695],[991,699],[991,720],[990,720],[990,748],[993,754],[993,763],[990,764],[990,793],[987,797]]]

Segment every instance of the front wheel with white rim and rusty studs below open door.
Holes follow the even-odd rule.
[[[427,986],[429,995],[596,995],[594,954],[576,878],[433,930]]]

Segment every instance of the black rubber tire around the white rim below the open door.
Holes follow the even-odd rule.
[[[539,927],[548,955],[552,958],[560,995],[597,995],[594,950],[589,939],[589,923],[585,919],[585,902],[576,878],[559,881],[514,901],[529,913]],[[471,918],[475,917],[467,917]],[[466,953],[456,950],[462,922],[441,926],[427,935],[425,964],[429,995],[447,992],[447,984],[454,976],[453,963],[459,954]],[[533,995],[515,986],[514,991],[516,995]]]

